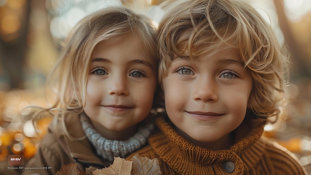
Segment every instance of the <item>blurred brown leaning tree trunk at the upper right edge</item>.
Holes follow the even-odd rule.
[[[276,13],[279,19],[279,26],[283,32],[285,42],[291,53],[291,77],[311,77],[310,64],[306,61],[309,55],[305,51],[304,47],[296,40],[293,31],[290,26],[290,22],[284,11],[283,0],[273,0]]]

